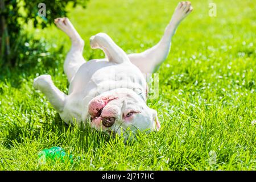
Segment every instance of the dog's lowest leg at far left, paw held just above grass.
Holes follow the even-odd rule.
[[[54,109],[58,112],[63,111],[66,95],[53,84],[51,76],[40,75],[35,78],[33,86],[46,96]]]

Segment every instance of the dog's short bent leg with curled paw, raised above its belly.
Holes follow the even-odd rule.
[[[107,34],[99,33],[92,36],[90,38],[90,47],[92,47],[92,49],[102,49],[109,61],[113,61],[115,63],[129,61],[125,51],[118,47]]]

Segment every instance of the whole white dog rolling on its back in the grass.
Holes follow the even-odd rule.
[[[177,26],[191,11],[190,2],[180,2],[163,38],[142,53],[126,55],[108,35],[92,36],[90,46],[102,49],[106,58],[88,62],[82,57],[84,41],[71,22],[68,18],[57,18],[57,27],[72,42],[64,63],[69,94],[57,89],[49,75],[35,78],[33,86],[47,97],[66,123],[86,123],[90,119],[90,126],[96,130],[114,134],[127,129],[134,133],[159,130],[156,111],[146,105],[147,84],[143,73],[152,73],[163,63]]]

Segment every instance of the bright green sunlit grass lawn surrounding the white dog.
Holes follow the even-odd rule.
[[[177,2],[91,0],[69,18],[85,40],[88,60],[104,56],[89,48],[98,32],[128,53],[153,46]],[[20,64],[0,73],[0,169],[255,170],[256,3],[216,0],[217,16],[210,17],[209,2],[192,1],[194,11],[180,24],[158,71],[160,96],[148,105],[158,110],[162,129],[127,144],[88,127],[63,125],[32,81],[48,73],[67,93],[63,61],[69,40],[56,27],[30,30],[35,39],[46,39],[49,45],[42,47],[51,59],[26,55],[35,67]],[[39,165],[38,152],[52,146],[80,160]]]

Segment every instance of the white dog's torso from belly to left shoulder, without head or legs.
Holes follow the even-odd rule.
[[[84,63],[71,81],[61,118],[66,122],[72,118],[84,122],[89,102],[101,93],[117,88],[142,92],[146,100],[146,80],[132,63],[115,64],[104,59]]]

